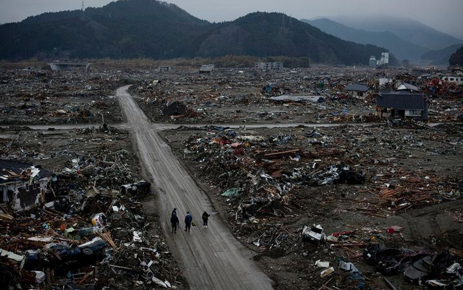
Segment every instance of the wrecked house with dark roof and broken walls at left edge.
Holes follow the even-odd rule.
[[[15,211],[42,201],[52,173],[31,164],[0,159],[1,202]]]

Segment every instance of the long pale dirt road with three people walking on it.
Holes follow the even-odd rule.
[[[180,255],[182,268],[193,290],[269,290],[272,281],[255,265],[252,252],[241,245],[224,223],[211,217],[203,228],[201,214],[212,212],[212,205],[168,144],[158,135],[132,97],[128,86],[117,90],[120,106],[135,135],[141,161],[150,175],[156,194],[160,195],[160,217],[168,243]],[[186,211],[198,226],[187,233],[182,228],[170,233],[170,212],[178,209],[180,224]],[[201,223],[202,224],[202,223]]]

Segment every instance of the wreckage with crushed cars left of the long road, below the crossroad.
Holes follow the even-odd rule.
[[[45,179],[47,171],[40,166],[0,162],[25,168],[2,171],[3,179],[48,181],[31,206],[0,203],[0,281],[5,289],[182,289],[184,278],[159,221],[147,216],[141,202],[150,184],[139,179],[136,160],[121,149],[119,139],[126,139],[126,133],[110,126],[71,132],[24,131],[3,152],[53,164],[47,165],[53,172]],[[68,135],[74,141],[67,143]],[[63,145],[50,139],[62,136],[67,140]],[[111,145],[114,140],[117,146]],[[8,197],[14,201],[24,195],[13,198],[8,192]]]

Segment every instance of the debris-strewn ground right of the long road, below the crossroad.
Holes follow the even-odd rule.
[[[362,255],[371,244],[426,250],[431,256],[450,247],[452,263],[461,263],[462,253],[455,251],[460,242],[440,244],[425,235],[410,239],[412,229],[394,223],[433,205],[450,207],[440,216],[449,228],[461,223],[456,208],[463,164],[455,156],[463,153],[462,132],[461,125],[402,122],[315,129],[179,127],[165,138],[192,175],[215,193],[210,197],[237,239],[258,253],[254,259],[279,283],[289,275],[312,281],[304,283],[308,288],[385,289]],[[461,234],[449,230],[441,241]],[[329,266],[314,266],[317,260]],[[403,271],[387,277],[389,283],[414,289],[399,274]],[[428,280],[448,284],[445,277],[436,273]]]

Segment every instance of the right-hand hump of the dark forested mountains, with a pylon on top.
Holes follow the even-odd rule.
[[[384,51],[341,40],[282,13],[255,12],[215,25],[202,36],[197,55],[286,55],[308,57],[314,62],[366,65],[370,55],[379,56]]]

